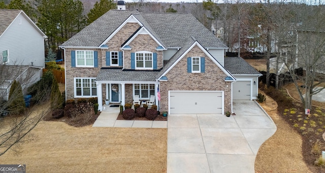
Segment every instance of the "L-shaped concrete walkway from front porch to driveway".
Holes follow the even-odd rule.
[[[134,128],[167,128],[167,121],[134,121],[116,120],[119,107],[105,106],[105,111],[97,118],[92,127],[134,127]]]

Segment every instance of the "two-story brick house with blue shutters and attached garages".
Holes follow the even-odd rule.
[[[228,48],[186,13],[110,10],[60,47],[66,99],[98,97],[99,110],[105,99],[155,95],[170,114],[223,114],[233,99],[255,99],[261,76],[242,58],[224,58]]]

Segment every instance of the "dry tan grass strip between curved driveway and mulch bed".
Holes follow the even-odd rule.
[[[277,131],[259,148],[255,172],[311,172],[303,160],[302,138],[278,115],[277,103],[267,96],[260,105],[273,119]]]

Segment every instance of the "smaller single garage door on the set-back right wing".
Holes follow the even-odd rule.
[[[237,81],[233,84],[234,100],[250,100],[250,81]]]

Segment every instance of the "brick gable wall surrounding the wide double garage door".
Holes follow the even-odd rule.
[[[187,57],[193,56],[205,57],[205,73],[187,73]],[[198,46],[194,46],[166,76],[169,81],[160,82],[160,111],[168,111],[170,90],[224,91],[224,111],[231,110],[231,82],[224,81],[227,75]]]

